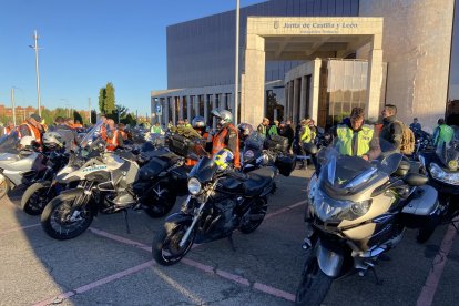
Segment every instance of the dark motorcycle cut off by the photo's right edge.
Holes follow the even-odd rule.
[[[455,137],[448,145],[419,152],[419,161],[429,175],[429,185],[439,193],[441,214],[437,224],[448,224],[459,216],[459,128],[453,126]],[[434,231],[434,227],[430,228]],[[430,233],[425,233],[428,236]],[[426,238],[420,239],[424,242]]]

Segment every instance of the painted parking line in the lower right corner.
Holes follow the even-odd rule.
[[[456,223],[456,226],[459,222]],[[422,290],[418,297],[417,306],[430,306],[434,302],[435,293],[437,292],[438,284],[440,283],[441,274],[443,273],[445,265],[448,261],[448,254],[451,251],[452,242],[456,237],[456,227],[451,223],[448,226],[447,233],[441,242],[440,249],[435,256],[432,268],[429,276],[424,284]]]

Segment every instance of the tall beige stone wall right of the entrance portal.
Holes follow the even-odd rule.
[[[426,130],[445,115],[452,10],[453,0],[360,0],[361,17],[385,18],[386,103]]]

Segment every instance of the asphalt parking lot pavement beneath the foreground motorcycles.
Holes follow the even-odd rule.
[[[303,212],[309,170],[280,177],[257,231],[193,248],[174,266],[151,256],[164,218],[99,215],[71,241],[54,241],[19,210],[23,190],[0,201],[0,305],[293,305],[305,252]],[[178,210],[178,198],[173,211]],[[368,273],[336,280],[324,305],[458,305],[459,243],[442,226],[424,245],[406,231]]]

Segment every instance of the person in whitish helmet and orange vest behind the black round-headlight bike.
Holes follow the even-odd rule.
[[[226,110],[214,109],[212,115],[218,119],[222,128],[214,135],[212,142],[212,155],[214,156],[223,149],[228,149],[234,155],[234,166],[241,167],[239,136],[237,129],[233,125],[233,114]]]

